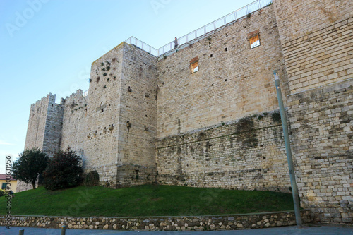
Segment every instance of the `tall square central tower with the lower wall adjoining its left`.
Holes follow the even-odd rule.
[[[157,58],[121,43],[92,63],[88,97],[66,98],[61,148],[105,186],[155,181]]]

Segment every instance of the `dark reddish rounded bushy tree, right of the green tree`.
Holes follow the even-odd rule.
[[[48,167],[43,172],[44,187],[56,190],[78,186],[83,180],[82,174],[82,159],[68,147],[49,159]]]

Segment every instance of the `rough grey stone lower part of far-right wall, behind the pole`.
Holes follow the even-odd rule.
[[[320,222],[352,224],[353,79],[290,95],[301,204]]]

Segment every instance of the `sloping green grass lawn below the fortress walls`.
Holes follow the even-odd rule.
[[[0,198],[6,214],[6,198]],[[225,215],[294,210],[292,195],[270,191],[233,191],[182,186],[103,188],[80,186],[61,191],[35,190],[16,193],[12,215],[56,216],[163,216]]]

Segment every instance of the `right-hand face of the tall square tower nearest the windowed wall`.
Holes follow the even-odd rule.
[[[152,183],[156,177],[157,60],[138,47],[123,44],[119,122],[119,183]]]

